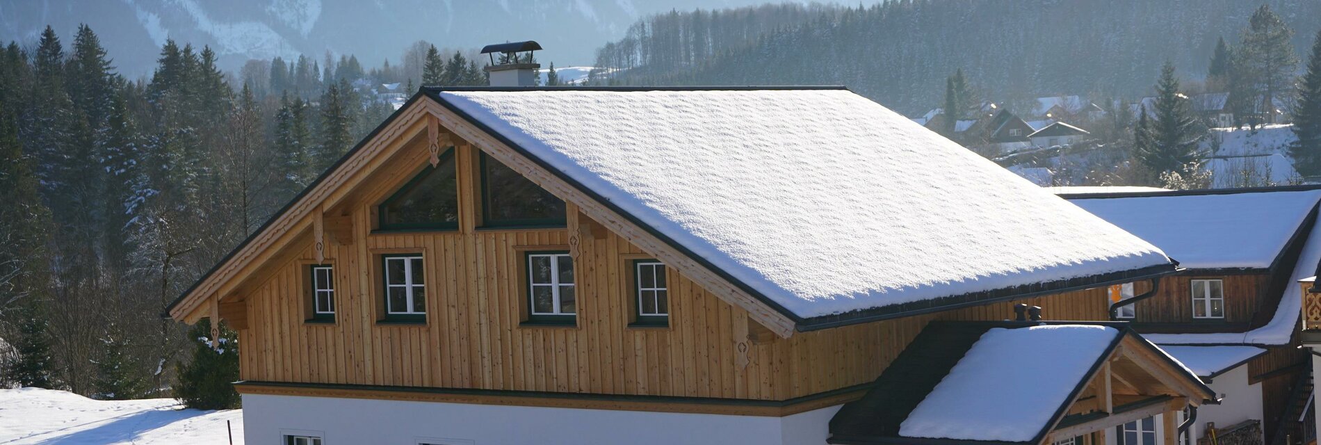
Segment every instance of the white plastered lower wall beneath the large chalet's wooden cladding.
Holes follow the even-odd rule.
[[[243,437],[283,444],[287,433],[314,434],[325,445],[824,445],[839,408],[758,417],[244,395]]]

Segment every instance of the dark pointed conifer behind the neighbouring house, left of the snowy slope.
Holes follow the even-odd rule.
[[[1181,172],[1185,165],[1201,161],[1198,143],[1205,129],[1178,88],[1174,63],[1165,62],[1156,83],[1155,116],[1148,123],[1149,143],[1135,144],[1135,156],[1153,173]]]

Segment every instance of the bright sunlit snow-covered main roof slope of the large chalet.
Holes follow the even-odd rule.
[[[1169,267],[843,88],[427,92],[802,318]]]

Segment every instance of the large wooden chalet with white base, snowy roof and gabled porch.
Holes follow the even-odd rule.
[[[1174,272],[839,87],[427,87],[169,314],[248,444],[1174,444]]]

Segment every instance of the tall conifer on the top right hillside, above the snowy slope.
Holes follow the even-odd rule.
[[[1243,30],[1239,45],[1239,59],[1235,65],[1243,70],[1244,81],[1255,91],[1254,108],[1260,110],[1263,119],[1273,121],[1276,98],[1293,81],[1299,58],[1295,55],[1293,29],[1284,24],[1280,16],[1263,4]]]

